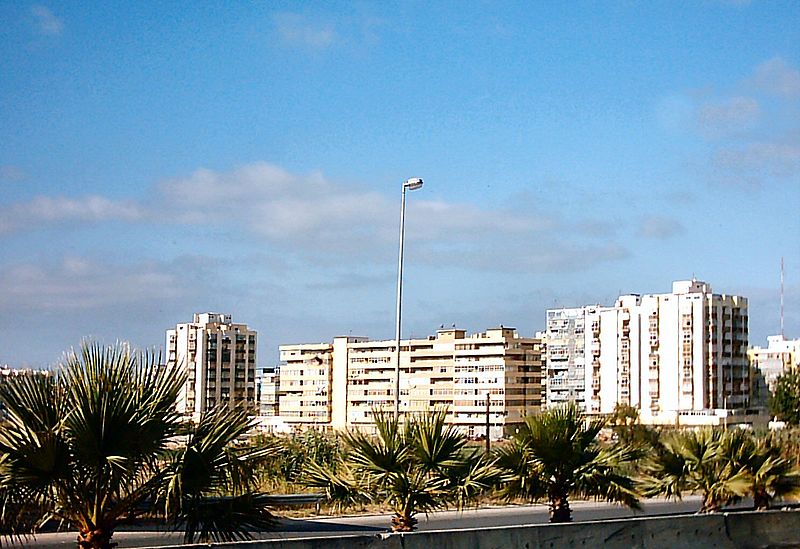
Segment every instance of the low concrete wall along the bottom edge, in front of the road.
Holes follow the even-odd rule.
[[[387,519],[388,522],[388,519]],[[179,546],[183,548],[197,545]],[[241,549],[800,548],[800,510],[211,544]],[[176,548],[177,549],[177,548]]]

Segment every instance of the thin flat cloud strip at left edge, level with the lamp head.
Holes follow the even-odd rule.
[[[133,202],[116,202],[102,196],[82,198],[37,196],[29,202],[0,208],[0,234],[53,223],[132,221],[142,217]]]

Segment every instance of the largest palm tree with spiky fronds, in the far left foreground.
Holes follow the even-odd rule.
[[[231,446],[247,417],[219,410],[187,426],[176,410],[184,383],[154,353],[85,343],[52,375],[2,384],[2,533],[25,536],[54,520],[78,530],[79,547],[107,549],[122,521],[156,506],[187,541],[267,526],[250,491],[260,455]]]

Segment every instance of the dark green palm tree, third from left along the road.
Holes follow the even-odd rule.
[[[603,421],[587,422],[575,404],[525,417],[511,444],[497,450],[508,499],[547,500],[551,522],[569,522],[570,497],[592,497],[639,508],[634,481],[623,470],[639,457],[631,446],[604,446]]]

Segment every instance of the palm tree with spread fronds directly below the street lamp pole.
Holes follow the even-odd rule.
[[[394,511],[392,530],[401,532],[414,530],[417,513],[448,503],[462,508],[493,485],[497,470],[446,425],[446,410],[411,415],[402,424],[382,410],[373,415],[377,436],[344,434],[345,463],[336,472],[309,467],[306,485],[324,489],[340,505],[388,503]]]

